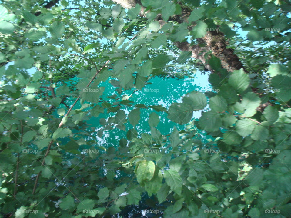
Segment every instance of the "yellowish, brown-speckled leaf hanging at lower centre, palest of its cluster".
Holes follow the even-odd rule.
[[[155,163],[152,161],[142,160],[139,162],[136,171],[136,179],[139,184],[143,184],[146,181],[149,181],[154,176],[155,172]]]

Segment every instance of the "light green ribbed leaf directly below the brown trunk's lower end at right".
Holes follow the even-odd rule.
[[[243,71],[243,68],[237,71],[233,71],[230,75],[228,83],[239,93],[241,94],[243,91],[248,88],[250,83],[249,76]]]

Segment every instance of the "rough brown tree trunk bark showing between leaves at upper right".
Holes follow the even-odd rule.
[[[140,4],[139,0],[112,0],[113,2],[120,4],[124,8],[135,7],[136,4]],[[142,7],[140,15],[144,15],[144,7]],[[178,23],[188,22],[187,18],[190,16],[191,11],[188,8],[182,7],[181,15],[173,15],[169,18],[169,21],[177,21]],[[159,16],[160,17],[160,16]],[[160,22],[160,25],[163,25],[165,22],[162,18],[157,17],[156,20]],[[188,42],[175,42],[174,44],[181,51],[191,51],[192,57],[195,59],[201,60],[202,64],[206,69],[213,73],[213,70],[208,64],[207,58],[204,56],[205,53],[211,51],[214,56],[220,59],[222,68],[227,71],[235,71],[243,68],[243,64],[239,60],[238,56],[232,49],[226,48],[228,45],[224,34],[222,32],[213,32],[208,31],[204,38],[198,38],[196,45],[190,45]],[[204,44],[205,47],[200,45]]]

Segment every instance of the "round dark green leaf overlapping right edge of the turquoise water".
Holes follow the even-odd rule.
[[[192,107],[184,103],[172,103],[168,111],[168,119],[180,125],[186,124],[192,118]]]

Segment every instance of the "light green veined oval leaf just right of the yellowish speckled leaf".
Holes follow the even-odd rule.
[[[166,183],[170,186],[171,191],[180,195],[182,192],[182,179],[176,170],[165,170],[164,178]]]

